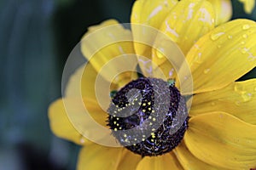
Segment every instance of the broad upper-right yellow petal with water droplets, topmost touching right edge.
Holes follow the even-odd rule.
[[[194,92],[224,88],[252,70],[256,66],[255,38],[253,20],[232,20],[201,37],[187,54]]]

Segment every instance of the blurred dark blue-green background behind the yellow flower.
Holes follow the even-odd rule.
[[[134,0],[0,0],[0,170],[75,169],[79,146],[56,138],[47,109],[88,26],[129,22]],[[233,2],[233,18],[256,20]],[[256,77],[256,69],[241,79]]]

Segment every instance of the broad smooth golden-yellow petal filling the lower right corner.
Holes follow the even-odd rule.
[[[193,155],[227,169],[256,166],[256,126],[224,112],[194,116],[184,141]]]

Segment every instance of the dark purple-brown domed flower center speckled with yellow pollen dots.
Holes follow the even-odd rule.
[[[143,77],[113,94],[108,114],[113,136],[141,156],[160,156],[175,148],[189,119],[185,99],[172,81]]]

